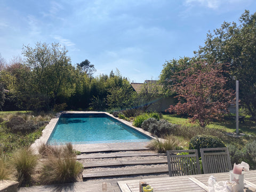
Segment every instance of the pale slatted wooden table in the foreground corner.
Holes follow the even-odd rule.
[[[146,181],[157,191],[208,191],[208,179],[213,175],[217,181],[229,181],[229,173],[213,173],[185,175],[179,177],[152,178],[144,180],[118,181],[119,188],[123,192],[139,192],[139,181]],[[256,170],[244,174],[244,183],[249,186],[247,191],[256,189]],[[244,190],[246,191],[246,190]]]

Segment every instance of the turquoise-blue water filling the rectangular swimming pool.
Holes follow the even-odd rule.
[[[106,114],[62,114],[47,144],[146,142],[150,138]]]

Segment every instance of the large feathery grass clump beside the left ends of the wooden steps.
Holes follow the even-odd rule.
[[[77,162],[75,157],[71,143],[61,148],[60,156],[47,153],[41,170],[41,182],[44,184],[75,182],[83,170],[83,165]]]

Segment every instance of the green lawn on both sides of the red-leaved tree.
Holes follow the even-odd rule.
[[[189,123],[188,118],[181,117],[178,115],[163,115],[163,118],[173,124],[178,125],[192,125]],[[213,122],[206,127],[224,130],[226,132],[236,132],[236,121],[222,121],[222,122]],[[244,123],[239,123],[239,132],[243,132],[245,134],[256,136],[256,123],[249,120],[249,118],[245,118]]]

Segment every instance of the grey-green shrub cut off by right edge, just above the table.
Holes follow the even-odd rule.
[[[250,169],[256,169],[256,140],[248,142],[244,146],[243,161],[250,165]]]

